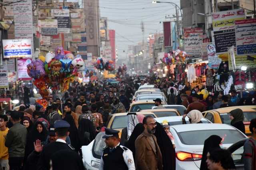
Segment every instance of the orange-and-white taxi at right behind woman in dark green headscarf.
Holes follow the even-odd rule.
[[[214,109],[209,111],[204,111],[202,114],[206,119],[212,123],[224,123],[230,125],[229,113],[234,109],[242,109],[244,113],[244,125],[246,135],[250,135],[249,130],[250,121],[256,118],[256,106],[233,106],[233,107],[224,107],[220,109]]]

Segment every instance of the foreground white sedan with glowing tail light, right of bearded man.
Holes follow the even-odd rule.
[[[199,123],[170,127],[175,141],[176,170],[199,170],[204,140],[211,135],[220,136],[221,148],[228,148],[238,140],[247,138],[240,130],[226,124]]]

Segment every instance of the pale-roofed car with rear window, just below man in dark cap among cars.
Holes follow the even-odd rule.
[[[140,110],[139,113],[154,113],[156,117],[168,117],[168,116],[180,116],[180,113],[177,109],[146,109]]]

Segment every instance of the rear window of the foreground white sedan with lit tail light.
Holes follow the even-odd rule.
[[[178,133],[181,142],[188,145],[204,144],[204,140],[211,135],[220,136],[223,144],[233,144],[238,140],[245,138],[245,136],[238,130],[229,129],[194,130]]]

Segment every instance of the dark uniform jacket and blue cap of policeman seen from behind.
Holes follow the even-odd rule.
[[[54,128],[69,128],[70,125],[66,121],[56,121]],[[50,170],[50,159],[52,155],[59,150],[73,150],[74,148],[66,144],[65,140],[57,139],[55,142],[49,143],[44,146],[40,158],[38,160],[37,170]]]

